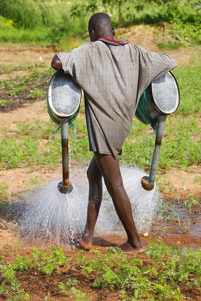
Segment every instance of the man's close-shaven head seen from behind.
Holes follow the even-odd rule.
[[[115,33],[114,28],[112,27],[112,21],[108,14],[105,13],[96,13],[91,16],[88,32],[91,41],[97,37],[113,39]]]

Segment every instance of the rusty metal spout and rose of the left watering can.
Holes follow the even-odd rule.
[[[61,148],[62,148],[62,173],[63,181],[57,185],[60,193],[67,194],[73,190],[72,183],[69,182],[69,163],[68,163],[68,117],[61,118]]]

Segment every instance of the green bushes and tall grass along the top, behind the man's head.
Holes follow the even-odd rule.
[[[1,0],[0,40],[59,44],[71,50],[86,42],[89,17],[99,11],[109,13],[115,27],[164,23],[161,29],[169,34],[169,39],[159,42],[161,48],[175,49],[201,42],[201,10],[197,0]]]

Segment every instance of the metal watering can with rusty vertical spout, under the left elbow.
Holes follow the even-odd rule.
[[[61,127],[63,181],[58,183],[57,188],[63,194],[73,190],[69,182],[68,128],[78,114],[80,101],[81,88],[73,78],[64,74],[63,70],[54,73],[48,88],[47,104],[51,119]]]

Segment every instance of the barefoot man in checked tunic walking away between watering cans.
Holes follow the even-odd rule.
[[[118,156],[131,128],[139,98],[151,81],[177,67],[172,57],[116,41],[110,17],[94,14],[88,25],[91,42],[58,53],[52,60],[55,70],[63,69],[85,95],[89,149],[94,156],[87,170],[89,199],[87,222],[82,233],[73,235],[87,250],[102,200],[102,177],[122,225],[127,241],[117,246],[123,253],[143,252],[143,245],[125,192]]]

